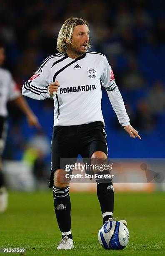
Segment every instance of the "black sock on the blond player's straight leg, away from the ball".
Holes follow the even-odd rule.
[[[70,196],[69,186],[67,187],[55,187],[53,186],[53,198],[55,205],[55,214],[57,223],[61,232],[69,232],[71,228],[71,217],[70,217]],[[66,235],[62,235],[62,238]],[[72,239],[72,234],[67,235],[68,238]]]

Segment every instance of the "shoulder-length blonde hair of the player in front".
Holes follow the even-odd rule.
[[[67,50],[67,44],[72,44],[73,28],[77,25],[87,25],[89,27],[87,21],[82,18],[68,18],[63,23],[57,38],[58,51],[65,53]],[[91,45],[87,44],[87,47],[90,48]]]

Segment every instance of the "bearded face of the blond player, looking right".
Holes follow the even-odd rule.
[[[89,28],[87,25],[77,25],[73,28],[72,44],[67,46],[67,54],[77,58],[87,51],[89,43]]]

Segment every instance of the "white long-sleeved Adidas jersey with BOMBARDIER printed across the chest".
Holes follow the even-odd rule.
[[[81,125],[102,121],[101,85],[106,87],[120,123],[129,124],[122,97],[115,84],[106,57],[87,51],[77,59],[67,54],[54,54],[43,61],[37,72],[25,82],[22,93],[36,100],[50,98],[48,85],[58,81],[54,98],[54,125]],[[114,105],[115,104],[115,105]]]

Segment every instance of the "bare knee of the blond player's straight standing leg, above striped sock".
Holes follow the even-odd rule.
[[[54,172],[54,186],[55,187],[66,187],[69,184],[69,180],[65,177],[65,170],[58,169]]]

